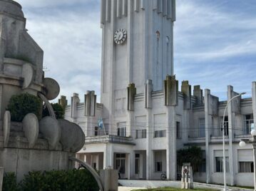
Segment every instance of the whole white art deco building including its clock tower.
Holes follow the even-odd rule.
[[[121,177],[158,180],[166,172],[176,180],[176,151],[202,148],[204,160],[194,180],[223,183],[221,120],[227,101],[210,90],[173,76],[175,0],[102,0],[101,103],[88,91],[84,103],[74,93],[65,118],[78,123],[86,144],[78,153],[100,170],[121,166]],[[236,98],[225,124],[227,183],[253,186],[251,139],[256,117],[256,83],[252,98]],[[227,100],[237,93],[227,86]],[[65,104],[64,96],[59,100]],[[104,128],[98,128],[103,119]]]

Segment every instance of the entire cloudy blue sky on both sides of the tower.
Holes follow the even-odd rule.
[[[46,76],[70,100],[88,90],[100,96],[100,0],[17,0],[26,28],[44,51]],[[178,0],[174,67],[178,80],[226,99],[227,85],[251,93],[256,81],[255,0]]]

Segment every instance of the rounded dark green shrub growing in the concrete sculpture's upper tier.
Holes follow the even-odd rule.
[[[28,113],[34,113],[40,119],[41,105],[40,98],[29,93],[21,93],[11,97],[7,110],[11,113],[12,121],[21,122]]]

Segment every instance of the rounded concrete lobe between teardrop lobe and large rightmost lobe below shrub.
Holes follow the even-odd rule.
[[[58,120],[53,117],[42,118],[39,122],[39,130],[43,134],[43,138],[48,140],[50,148],[56,148],[58,141],[61,140],[61,128]]]

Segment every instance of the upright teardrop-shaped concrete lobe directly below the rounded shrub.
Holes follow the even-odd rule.
[[[39,119],[34,113],[27,114],[22,120],[24,135],[29,141],[29,148],[34,148],[39,137]]]

